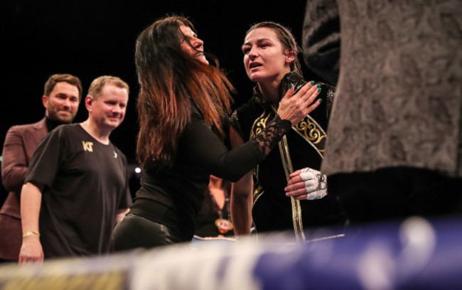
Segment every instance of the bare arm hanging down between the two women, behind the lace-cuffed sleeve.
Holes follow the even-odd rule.
[[[233,127],[230,127],[230,141],[232,148],[244,144],[244,140]],[[252,172],[232,183],[230,203],[235,235],[249,235],[252,227]]]

